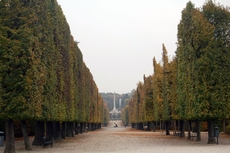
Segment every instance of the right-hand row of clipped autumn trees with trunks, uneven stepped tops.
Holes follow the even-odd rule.
[[[230,11],[207,1],[195,8],[189,1],[182,11],[177,34],[176,56],[170,61],[163,45],[162,62],[153,59],[153,75],[139,82],[128,106],[122,110],[123,122],[137,128],[142,123],[163,121],[166,134],[169,123],[196,122],[197,140],[200,122],[207,121],[208,143],[215,143],[214,126],[230,116]],[[128,112],[128,113],[127,113]]]

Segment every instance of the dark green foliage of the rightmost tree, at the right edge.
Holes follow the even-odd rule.
[[[208,73],[207,99],[210,101],[211,118],[225,118],[229,113],[229,97],[227,92],[230,89],[230,10],[207,1],[203,5],[205,18],[214,27],[210,52],[207,54]]]

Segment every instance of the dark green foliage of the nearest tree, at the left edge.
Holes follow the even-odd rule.
[[[31,30],[27,27],[28,9],[20,9],[21,3],[1,1],[0,24],[0,80],[1,118],[21,118],[29,108],[30,97],[28,69],[31,67]],[[9,8],[11,5],[11,8]],[[2,111],[4,110],[4,112]],[[27,114],[30,117],[32,114]]]

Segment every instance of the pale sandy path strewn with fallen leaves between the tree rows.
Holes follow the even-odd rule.
[[[219,144],[207,144],[207,133],[202,133],[202,141],[196,142],[166,136],[163,132],[147,132],[122,127],[119,121],[117,128],[114,122],[108,127],[75,135],[73,138],[55,142],[53,148],[33,146],[32,151],[25,151],[22,140],[15,142],[17,153],[228,153],[230,137],[220,135]],[[31,142],[33,137],[31,137]],[[4,147],[0,147],[3,152]]]

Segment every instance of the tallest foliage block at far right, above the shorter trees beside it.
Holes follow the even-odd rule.
[[[229,26],[224,26],[229,15],[212,1],[203,10],[188,2],[182,11],[176,52],[176,108],[182,119],[225,118],[229,114]]]

